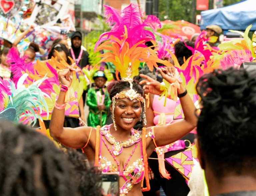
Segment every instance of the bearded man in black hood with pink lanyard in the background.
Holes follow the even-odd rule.
[[[75,60],[80,68],[83,68],[89,64],[89,54],[81,48],[81,45],[82,34],[79,31],[76,31],[71,36],[71,49],[69,50],[69,55]]]

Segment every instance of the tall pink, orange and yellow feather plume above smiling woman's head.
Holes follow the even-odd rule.
[[[142,14],[137,4],[130,4],[122,11],[110,6],[105,7],[106,22],[112,26],[110,32],[100,35],[95,45],[95,52],[107,50],[100,55],[99,62],[112,62],[116,66],[116,74],[120,72],[121,78],[127,77],[126,70],[131,64],[132,76],[139,74],[140,62],[145,62],[150,70],[157,67],[157,62],[171,66],[168,61],[163,61],[157,57],[152,47],[147,47],[146,42],[155,45],[154,34],[146,30],[145,27],[156,31],[161,28],[159,19],[156,16],[147,16],[142,19]]]

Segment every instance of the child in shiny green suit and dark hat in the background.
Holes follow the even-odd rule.
[[[89,106],[89,115],[87,125],[96,127],[97,125],[105,125],[107,120],[107,112],[110,105],[109,94],[105,83],[107,77],[103,71],[97,71],[93,75],[94,83],[88,90],[86,104]]]

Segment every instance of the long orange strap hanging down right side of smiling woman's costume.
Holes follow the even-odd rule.
[[[144,192],[144,191],[150,190],[149,178],[148,178],[148,158],[147,158],[147,151],[146,151],[146,127],[142,128],[142,154],[143,154],[145,174],[143,176],[143,179],[141,180],[141,190]],[[144,178],[146,179],[146,188],[143,188]]]

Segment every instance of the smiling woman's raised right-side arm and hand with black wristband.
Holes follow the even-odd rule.
[[[179,74],[177,69],[174,67],[161,68],[159,69],[159,72],[169,83],[173,83],[178,80]],[[178,95],[184,95],[180,97],[184,119],[169,125],[155,126],[154,132],[157,146],[170,144],[180,139],[196,127],[197,117],[195,116],[195,106],[190,96],[188,94],[185,95],[185,91],[186,89],[180,83]]]

